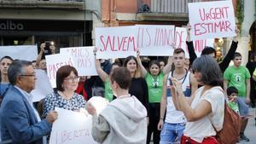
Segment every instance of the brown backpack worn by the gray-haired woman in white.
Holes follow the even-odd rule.
[[[217,135],[219,144],[236,144],[241,130],[241,117],[233,111],[227,103],[224,104],[224,123],[223,128],[217,131],[212,124]]]

